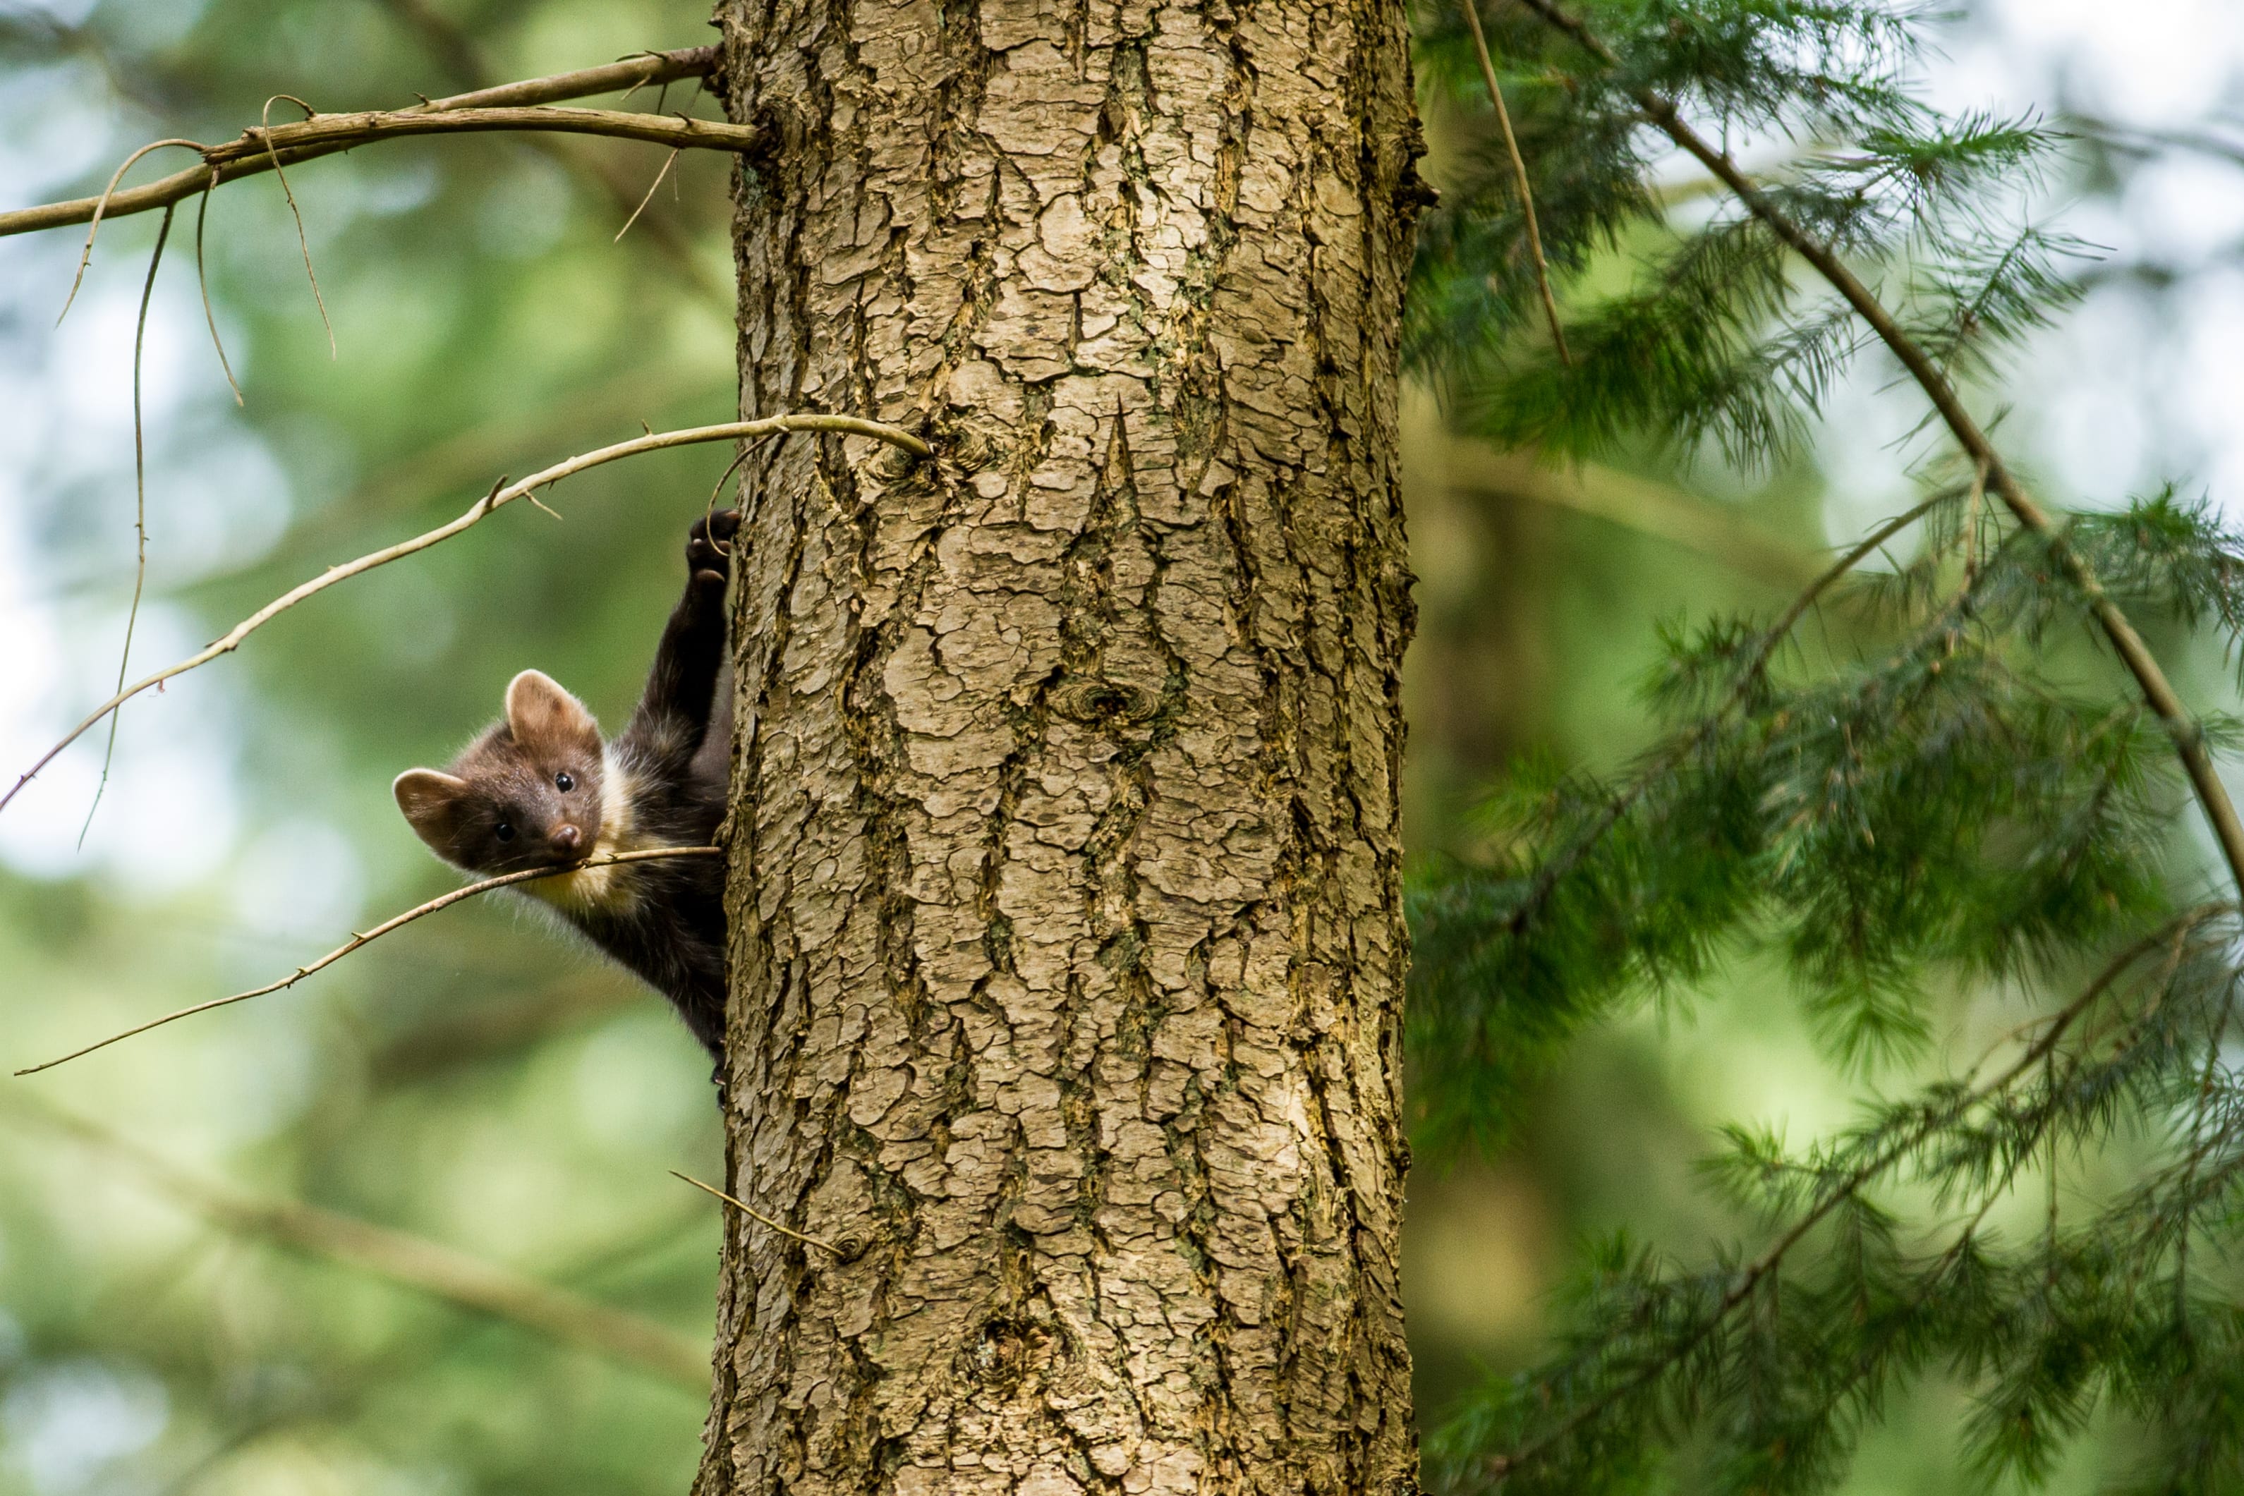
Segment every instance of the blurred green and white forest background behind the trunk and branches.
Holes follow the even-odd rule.
[[[709,36],[700,0],[0,4],[0,206],[99,191],[148,139],[224,139],[276,90],[397,105]],[[2109,256],[2008,390],[2011,444],[2069,502],[2244,478],[2240,70],[2244,18],[2219,0],[2118,20],[1988,0],[1932,65],[1943,103],[2123,130],[2121,148],[2082,141],[2051,204]],[[1436,182],[1481,128],[1429,121]],[[159,153],[141,170],[180,164]],[[615,242],[660,166],[646,146],[462,137],[292,170],[332,361],[278,184],[218,193],[209,289],[240,408],[182,213],[148,318],[150,597],[132,673],[458,514],[500,473],[640,422],[729,417],[725,161],[682,157]],[[1690,175],[1674,186],[1694,211]],[[9,776],[117,673],[155,229],[103,229],[61,330],[81,236],[0,240]],[[1427,390],[1405,404],[1420,572],[1405,796],[1423,855],[1472,848],[1465,807],[1521,754],[1611,767],[1643,747],[1634,682],[1656,626],[1782,606],[1833,541],[1905,502],[1921,451],[1916,413],[1876,370],[1822,422],[1811,464],[1755,478],[1654,451],[1537,469],[1445,435]],[[525,666],[619,720],[725,458],[577,478],[550,496],[559,518],[507,509],[135,702],[83,848],[99,733],[58,760],[0,816],[0,1061],[267,982],[451,886],[388,781],[449,756]],[[2186,675],[2197,704],[2224,704],[2217,659]],[[1999,996],[1957,994],[1957,1025]],[[590,1330],[465,1312],[366,1252],[339,1263],[334,1216],[700,1346],[716,1204],[669,1171],[718,1173],[705,1074],[655,998],[482,902],[298,989],[0,1083],[0,1494],[682,1492],[707,1404],[691,1355],[680,1373],[588,1346]],[[1750,967],[1589,1034],[1519,1099],[1501,1155],[1420,1157],[1405,1283],[1423,1417],[1533,1355],[1584,1234],[1625,1225],[1703,1254],[1735,1231],[1692,1173],[1721,1121],[1811,1137],[1896,1079],[1818,1059]],[[334,1216],[254,1209],[269,1202]],[[1939,1388],[1892,1409],[1854,1489],[1964,1489],[1955,1415]]]

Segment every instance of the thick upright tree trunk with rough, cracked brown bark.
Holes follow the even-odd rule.
[[[1407,1492],[1396,0],[725,0],[700,1496]]]

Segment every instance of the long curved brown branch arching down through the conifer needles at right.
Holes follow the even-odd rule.
[[[1575,38],[1591,56],[1595,56],[1607,67],[1618,67],[1620,58],[1613,54],[1604,40],[1598,38],[1578,18],[1562,11],[1555,0],[1519,0],[1530,11],[1542,16],[1548,25],[1557,27],[1566,36]],[[1636,90],[1636,103],[1645,110],[1645,117],[1667,135],[1676,146],[1687,150],[1699,159],[1710,173],[1714,173],[1730,193],[1746,204],[1755,218],[1768,224],[1771,233],[1784,240],[1802,260],[1806,260],[1815,274],[1820,274],[1845,301],[1854,307],[1878,341],[1901,359],[1901,366],[1910,370],[1910,377],[1932,401],[1941,422],[1955,435],[1957,446],[1975,464],[1986,467],[1988,484],[1995,496],[2011,509],[2020,525],[2040,536],[2058,565],[2080,590],[2089,603],[2089,612],[2096,615],[2096,624],[2103,628],[2105,639],[2112,641],[2112,650],[2121,657],[2121,664],[2134,675],[2143,700],[2156,713],[2159,722],[2165,727],[2174,742],[2174,754],[2181,758],[2181,767],[2190,778],[2190,787],[2197,792],[2197,801],[2206,812],[2206,821],[2213,825],[2213,837],[2222,846],[2222,859],[2228,864],[2228,877],[2237,888],[2244,888],[2244,819],[2237,816],[2235,801],[2228,798],[2228,787],[2222,785],[2222,776],[2213,765],[2213,754],[2206,751],[2204,729],[2190,718],[2188,707],[2183,707],[2181,695],[2174,693],[2172,682],[2165,671],[2159,668],[2156,657],[2136,632],[2134,624],[2112,601],[2105,592],[2103,581],[2089,567],[2089,563],[2064,541],[2064,532],[2049,518],[2049,514],[2033,500],[2017,475],[2004,464],[2002,453],[1988,440],[1979,422],[1972,419],[1970,410],[1964,408],[1964,397],[1941,372],[1939,363],[1932,361],[1923,348],[1916,345],[1901,323],[1894,321],[1892,312],[1863,285],[1860,276],[1847,269],[1845,260],[1838,258],[1829,244],[1818,240],[1804,227],[1793,222],[1777,202],[1764,193],[1759,186],[1739,170],[1737,161],[1728,157],[1719,146],[1699,135],[1676,110],[1672,99],[1640,87]]]

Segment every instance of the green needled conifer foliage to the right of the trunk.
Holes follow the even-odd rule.
[[[1418,22],[1423,87],[1486,110],[1456,0]],[[1566,350],[1495,139],[1427,222],[1407,350],[1495,442],[1771,462],[1833,381],[1896,357],[1928,408],[1995,410],[2004,350],[2071,298],[2085,247],[2033,222],[2031,191],[2064,137],[1928,108],[1932,13],[1492,0],[1483,22]],[[1717,173],[1672,213],[1670,121],[1750,161],[1753,195]],[[1587,1021],[1741,949],[1782,960],[1849,1063],[1923,1054],[1964,982],[2015,994],[2022,1023],[1815,1146],[1732,1130],[1708,1173],[1759,1236],[1712,1263],[1600,1247],[1553,1359],[1429,1438],[1434,1485],[1831,1489],[1939,1377],[1975,1400],[1961,1458],[1988,1478],[2038,1483],[2103,1420],[2125,1489],[2244,1489],[2244,922],[2186,763],[2235,731],[2174,720],[2109,648],[2116,606],[2235,650],[2244,543],[2174,493],[2022,523],[1952,428],[1928,415],[1921,502],[1784,615],[1667,639],[1665,736],[1638,763],[1519,776],[1490,807],[1501,850],[1418,879],[1416,1092],[1427,1139],[1486,1142]],[[1860,576],[1878,554],[1914,558]],[[1845,615],[1851,648],[1802,648],[1811,610]],[[2067,1164],[2121,1142],[2132,1184],[2060,1209]],[[2044,1189],[2033,1231],[1995,1211]]]

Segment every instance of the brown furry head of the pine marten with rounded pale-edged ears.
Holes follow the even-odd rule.
[[[406,769],[397,810],[438,857],[469,872],[572,864],[601,832],[599,722],[539,671],[507,686],[507,715],[449,772]]]

